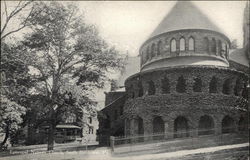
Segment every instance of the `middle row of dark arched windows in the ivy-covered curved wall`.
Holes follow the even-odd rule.
[[[146,82],[146,88],[144,88],[145,86],[143,86],[140,82],[137,84],[136,90],[133,90],[132,86],[129,88],[129,95],[130,98],[142,97],[143,95],[155,95],[157,89],[161,94],[170,94],[173,89],[175,89],[177,93],[187,92],[187,80],[183,76],[180,76],[176,79],[175,87],[170,87],[171,83],[170,79],[167,77],[164,77],[160,80],[159,88],[156,88],[156,84],[152,80]],[[222,93],[225,95],[234,94],[235,96],[241,96],[243,98],[248,97],[246,83],[240,79],[233,81],[232,78],[228,78],[224,81],[221,81],[216,76],[213,76],[207,85],[208,92],[212,94]],[[193,92],[204,92],[204,89],[206,88],[202,78],[199,77],[194,77],[190,86],[192,87],[191,90]]]

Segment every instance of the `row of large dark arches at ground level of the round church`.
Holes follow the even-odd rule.
[[[143,135],[144,134],[144,121],[141,117],[137,116],[135,118],[137,134]],[[157,134],[154,136],[153,139],[160,140],[164,138],[165,134],[165,121],[162,116],[154,116],[152,119],[152,133]],[[216,122],[216,119],[209,115],[201,115],[197,120],[197,126],[191,126],[193,123],[190,123],[190,119],[186,116],[179,115],[173,121],[173,137],[174,138],[182,138],[182,137],[189,137],[196,130],[197,127],[197,135],[213,135],[217,131],[221,132],[222,134],[226,133],[234,133],[237,130],[239,132],[247,131],[248,121],[246,117],[241,116],[237,121],[229,115],[225,115],[222,120]],[[128,130],[129,128],[127,128]],[[142,139],[143,141],[143,139]]]

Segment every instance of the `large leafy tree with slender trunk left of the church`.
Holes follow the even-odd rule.
[[[23,44],[41,80],[34,93],[46,97],[43,112],[50,125],[48,150],[53,150],[61,115],[91,106],[92,90],[102,88],[109,79],[107,73],[119,69],[123,59],[99,36],[95,26],[85,23],[75,5],[36,3],[40,12],[27,21],[33,32]]]

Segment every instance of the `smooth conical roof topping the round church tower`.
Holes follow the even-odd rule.
[[[153,31],[150,38],[180,29],[207,29],[223,33],[192,2],[178,1]]]

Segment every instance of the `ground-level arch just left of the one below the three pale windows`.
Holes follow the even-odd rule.
[[[153,120],[153,133],[154,134],[164,134],[165,127],[164,127],[164,121],[161,117],[157,116]],[[155,140],[163,139],[164,136],[154,136]]]

